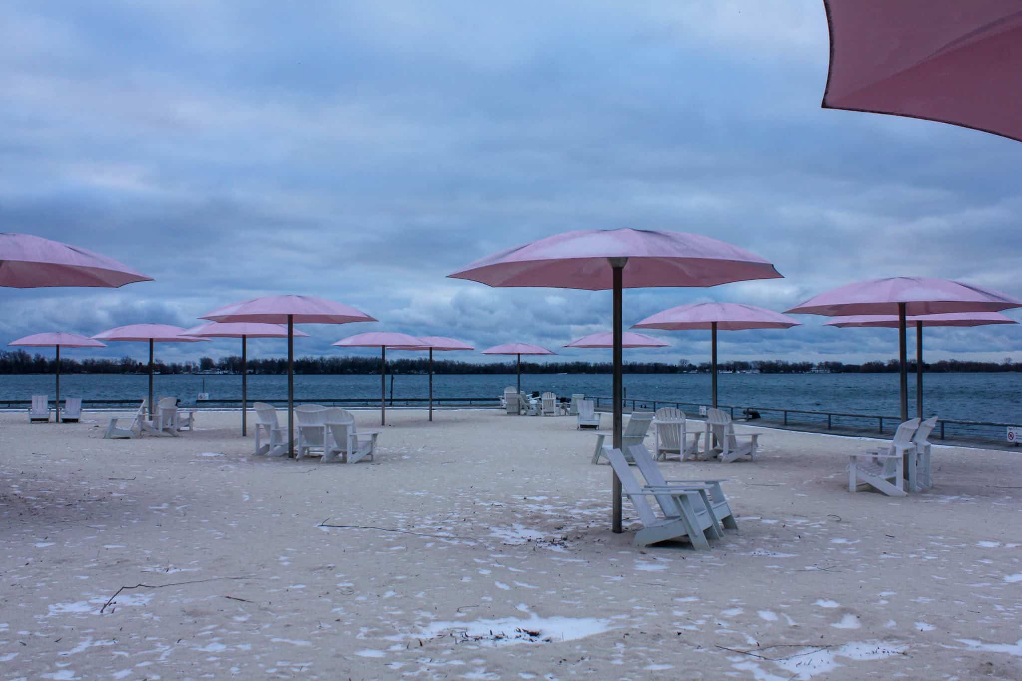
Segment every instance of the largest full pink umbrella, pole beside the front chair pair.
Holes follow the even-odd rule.
[[[776,279],[774,265],[747,250],[698,234],[652,230],[579,230],[516,246],[453,275],[490,286],[613,291],[613,439],[621,446],[621,291],[654,286],[716,286]],[[621,483],[611,478],[612,530],[621,531]]]

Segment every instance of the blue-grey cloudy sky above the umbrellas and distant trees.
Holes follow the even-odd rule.
[[[445,277],[587,228],[706,234],[786,277],[629,291],[629,324],[702,300],[783,310],[895,275],[1022,295],[1022,145],[821,109],[820,0],[11,0],[0,43],[3,231],[91,248],[156,280],[6,289],[6,340],[190,326],[222,304],[304,293],[381,323],[305,327],[299,354],[374,329],[558,349],[609,328],[609,293]],[[722,334],[722,357],[896,355],[895,331],[799,319],[804,328]],[[664,333],[675,347],[626,356],[701,361],[707,335]],[[933,330],[928,358],[1022,360],[1020,338],[1014,326]],[[253,343],[257,355],[284,351]]]

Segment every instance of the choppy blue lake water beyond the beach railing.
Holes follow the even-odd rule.
[[[915,376],[910,375],[910,414],[915,414]],[[942,419],[1022,422],[1022,373],[933,374],[926,376],[925,410]],[[240,398],[240,376],[156,376],[157,395],[175,395],[194,403],[202,391],[211,398]],[[436,397],[494,397],[515,384],[511,375],[443,375],[433,377]],[[558,395],[610,394],[609,375],[522,375],[522,390],[550,390]],[[624,376],[629,398],[707,403],[707,374],[633,374]],[[389,378],[387,390],[389,392]],[[141,399],[148,377],[139,375],[83,375],[60,378],[63,396],[85,399]],[[295,376],[294,394],[301,401],[328,398],[378,398],[379,376]],[[53,396],[52,375],[0,377],[0,399],[28,399],[33,394]],[[722,374],[722,404],[787,407],[819,411],[896,415],[896,374]],[[426,376],[396,376],[394,399],[426,397]],[[249,399],[287,397],[286,376],[249,376]]]

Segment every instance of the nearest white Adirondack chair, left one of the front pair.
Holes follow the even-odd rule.
[[[642,529],[636,532],[636,546],[649,546],[661,541],[687,538],[695,548],[709,548],[706,535],[718,536],[712,512],[706,505],[703,495],[694,490],[653,490],[642,487],[624,460],[620,449],[608,449],[607,459],[621,481],[621,491],[631,499],[639,514]],[[660,503],[662,518],[657,518],[649,505],[647,497],[652,496]]]

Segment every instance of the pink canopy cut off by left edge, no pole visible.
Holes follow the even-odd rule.
[[[117,288],[151,281],[126,264],[78,246],[31,234],[0,234],[0,286]]]

